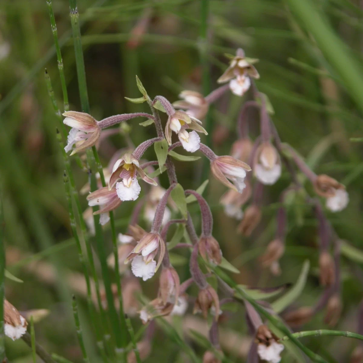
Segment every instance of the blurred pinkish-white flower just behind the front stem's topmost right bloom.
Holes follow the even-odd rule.
[[[184,109],[185,112],[196,119],[202,119],[208,112],[208,102],[205,100],[202,94],[196,91],[181,91],[179,97],[180,101],[173,103],[173,106],[177,109]]]

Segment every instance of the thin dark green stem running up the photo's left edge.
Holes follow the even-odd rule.
[[[5,291],[5,246],[4,246],[4,209],[3,195],[0,193],[0,362],[4,362],[5,335],[4,335],[4,291]]]

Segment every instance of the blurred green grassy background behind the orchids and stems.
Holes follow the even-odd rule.
[[[91,114],[99,120],[113,114],[147,112],[146,105],[135,105],[124,99],[125,96],[140,97],[135,74],[148,94],[164,95],[171,102],[178,99],[182,89],[205,93],[209,88],[211,91],[217,87],[216,79],[227,67],[224,53],[234,53],[241,47],[246,56],[260,59],[256,68],[261,78],[256,83],[272,102],[275,110],[272,118],[281,139],[307,157],[317,174],[329,174],[346,185],[350,194],[348,207],[338,214],[328,213],[328,217],[340,238],[362,249],[362,146],[351,142],[350,138],[362,136],[363,83],[359,81],[363,74],[363,8],[358,0],[314,1],[314,14],[322,25],[314,21],[310,24],[309,19],[313,20],[315,15],[304,13],[309,9],[301,4],[312,3],[304,0],[209,1],[204,62],[208,67],[209,85],[204,83],[203,86],[200,1],[78,1]],[[70,109],[81,111],[68,1],[53,0],[53,9]],[[130,31],[145,14],[145,9],[151,14],[150,24],[140,44],[132,48],[127,43]],[[335,42],[334,34],[341,41]],[[0,180],[5,243],[7,248],[17,249],[8,252],[8,270],[24,281],[19,284],[6,280],[5,293],[21,311],[49,309],[49,316],[36,325],[37,340],[47,350],[78,362],[82,356],[73,320],[69,306],[57,289],[57,280],[49,277],[50,272],[37,273],[29,268],[33,255],[42,257],[39,253],[46,251],[44,261],[58,263],[62,269],[73,272],[81,271],[76,246],[70,238],[62,158],[55,133],[57,119],[45,86],[45,68],[52,79],[58,105],[63,109],[46,1],[1,1]],[[249,94],[241,99],[227,93],[213,107],[209,118],[213,131],[209,141],[217,154],[229,153],[236,140],[238,111],[249,98]],[[136,145],[155,135],[152,127],[139,126],[141,121],[129,122],[131,139]],[[258,114],[253,112],[250,133],[252,138],[259,133]],[[114,135],[102,144],[99,153],[103,165],[107,166],[114,150],[126,146],[122,135]],[[146,157],[154,159],[153,151],[148,151]],[[203,159],[193,163],[176,162],[178,178],[184,188],[196,188],[201,184],[202,164]],[[74,173],[80,189],[87,182],[87,175],[75,163]],[[160,180],[167,187],[165,177],[162,175]],[[308,258],[310,275],[294,306],[313,305],[322,288],[317,272],[317,223],[311,208],[296,205],[289,213],[281,276],[273,277],[262,270],[257,259],[274,236],[276,203],[281,191],[290,183],[289,175],[284,173],[278,183],[265,188],[263,220],[249,238],[237,235],[237,222],[226,217],[218,205],[225,188],[212,176],[209,179],[205,197],[215,218],[213,234],[220,242],[223,256],[241,271],[233,275],[234,280],[252,286],[295,282],[303,261]],[[307,188],[311,191],[309,185]],[[84,197],[81,202],[86,209]],[[118,233],[126,231],[132,207],[132,203],[124,203],[118,209]],[[191,212],[198,222],[196,205],[191,207]],[[105,236],[105,248],[111,252],[107,226]],[[189,277],[188,254],[180,252],[180,255],[184,258],[178,272],[183,281]],[[33,258],[25,259],[27,256]],[[363,258],[356,256],[355,260],[360,262],[342,257],[344,310],[337,327],[341,330],[356,330],[357,306],[363,296]],[[45,277],[41,278],[41,274]],[[144,294],[154,298],[157,284],[157,278],[143,283]],[[86,345],[94,352],[85,301],[80,305]],[[244,337],[243,311],[230,317],[233,318],[221,324],[223,328]],[[322,320],[323,314],[318,314],[304,330],[326,327]],[[138,318],[133,322],[135,327],[140,326]],[[306,338],[305,342],[329,362],[348,362],[356,342],[344,339]],[[6,344],[11,361],[30,362],[30,350],[23,342],[7,340]],[[197,342],[192,342],[192,346],[198,354],[203,353]],[[226,353],[236,362],[244,361],[244,358],[236,358],[236,351],[226,350]],[[178,345],[165,339],[158,330],[147,361],[160,360],[181,362],[187,358],[180,353]],[[283,358],[282,362],[291,360]]]

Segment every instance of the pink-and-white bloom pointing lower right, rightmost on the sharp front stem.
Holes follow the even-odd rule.
[[[241,160],[232,158],[232,156],[217,156],[211,162],[211,171],[216,179],[239,193],[246,187],[246,171],[251,168]],[[229,181],[231,180],[233,184]]]

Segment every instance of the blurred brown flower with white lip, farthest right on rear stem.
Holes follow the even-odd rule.
[[[326,198],[326,207],[332,212],[340,212],[348,205],[349,195],[344,185],[328,175],[318,175],[314,189],[318,195]]]

